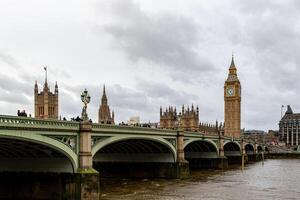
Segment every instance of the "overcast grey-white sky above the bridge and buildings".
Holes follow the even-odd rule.
[[[33,112],[33,86],[60,91],[60,114],[106,84],[116,121],[159,120],[160,106],[199,105],[223,120],[232,51],[242,83],[242,127],[277,129],[282,104],[300,112],[300,1],[1,0],[0,109]]]

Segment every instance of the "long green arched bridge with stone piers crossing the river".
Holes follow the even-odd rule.
[[[184,178],[189,168],[223,169],[244,157],[255,159],[263,149],[217,134],[0,116],[0,171],[72,174],[79,178],[65,180],[64,193],[76,191],[81,199],[97,199],[99,173],[111,176],[124,166]]]

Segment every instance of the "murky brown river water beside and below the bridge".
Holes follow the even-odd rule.
[[[266,160],[240,169],[193,171],[193,178],[102,179],[102,200],[300,199],[300,160]]]

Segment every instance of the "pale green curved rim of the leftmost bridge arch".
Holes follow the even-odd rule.
[[[38,144],[43,147],[47,147],[49,149],[55,150],[65,156],[71,164],[72,173],[76,172],[78,169],[78,156],[77,154],[70,149],[67,145],[52,139],[47,136],[43,136],[37,133],[30,133],[30,132],[1,132],[0,134],[0,141],[22,141],[22,142],[29,142],[32,144]],[[0,151],[5,150],[5,148],[1,148]],[[42,163],[43,164],[43,163]],[[71,172],[71,171],[68,171]]]

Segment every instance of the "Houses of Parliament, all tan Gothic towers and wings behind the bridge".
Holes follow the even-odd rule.
[[[36,118],[58,119],[58,85],[54,92],[50,91],[46,79],[43,90],[39,92],[37,82],[34,86],[34,114]],[[98,123],[115,124],[114,112],[110,111],[105,86],[98,110]],[[237,68],[232,56],[229,73],[224,84],[224,123],[203,123],[199,120],[199,107],[182,106],[177,112],[176,107],[169,106],[165,110],[160,108],[160,128],[181,129],[184,131],[198,131],[202,133],[222,133],[225,136],[241,136],[241,84],[237,76]]]

